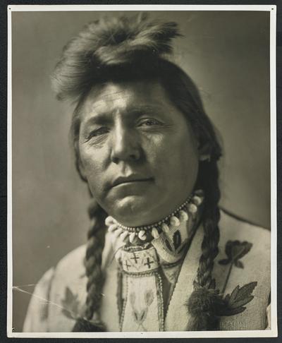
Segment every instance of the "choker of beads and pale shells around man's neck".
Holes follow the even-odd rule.
[[[181,222],[187,222],[190,216],[195,218],[198,207],[202,204],[203,200],[204,192],[199,189],[192,193],[192,195],[185,200],[185,203],[159,222],[139,227],[126,227],[109,216],[106,217],[105,224],[110,232],[114,232],[114,236],[120,236],[121,240],[124,242],[129,240],[129,242],[133,244],[138,241],[145,243],[147,239],[150,239],[151,237],[157,239],[161,232],[168,233],[171,231],[172,227],[178,227]]]

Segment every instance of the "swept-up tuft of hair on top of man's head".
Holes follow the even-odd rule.
[[[149,22],[146,13],[95,20],[63,48],[52,76],[57,98],[76,100],[114,69],[171,53],[178,35],[176,23]]]

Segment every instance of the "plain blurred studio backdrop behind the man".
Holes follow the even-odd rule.
[[[89,195],[68,143],[72,108],[56,101],[49,75],[63,45],[101,15],[12,13],[13,285],[28,292],[86,242]],[[269,12],[152,16],[179,23],[184,37],[176,41],[176,62],[197,84],[221,133],[221,205],[270,227]],[[30,295],[13,291],[16,332],[29,301]]]

